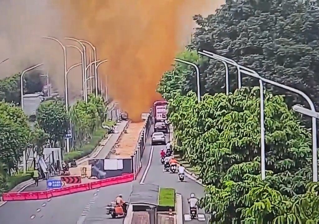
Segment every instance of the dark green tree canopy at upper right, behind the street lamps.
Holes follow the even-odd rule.
[[[270,78],[304,91],[319,110],[319,7],[297,0],[228,1],[216,15],[194,17],[198,24],[190,49],[208,50],[232,58]],[[200,66],[201,92],[225,92],[225,68],[215,60]],[[232,66],[230,66],[232,68]],[[191,72],[193,71],[193,72]],[[196,92],[194,69],[186,89]],[[237,72],[229,72],[230,90],[237,88]],[[243,86],[258,80],[242,75]],[[285,94],[290,106],[307,102],[300,96],[267,85],[273,93]]]

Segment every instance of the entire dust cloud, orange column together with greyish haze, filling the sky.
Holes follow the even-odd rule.
[[[225,0],[0,0],[0,78],[44,62],[50,82],[63,94],[63,51],[53,36],[92,42],[108,93],[130,119],[139,121],[152,103],[162,74],[190,40],[193,15],[214,13]],[[78,46],[78,45],[77,45]],[[67,48],[68,67],[80,62]],[[68,75],[69,100],[80,95],[81,68]]]

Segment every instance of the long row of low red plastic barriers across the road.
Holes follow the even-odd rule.
[[[110,186],[114,184],[126,183],[134,180],[134,174],[123,174],[119,177],[111,177],[87,184],[77,184],[75,186],[63,187],[60,189],[52,189],[47,191],[33,192],[10,192],[4,193],[2,198],[4,201],[23,201],[23,200],[41,200],[58,197],[67,194],[73,194],[82,191],[89,191],[100,187]]]

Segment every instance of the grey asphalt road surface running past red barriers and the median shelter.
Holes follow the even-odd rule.
[[[143,168],[137,180],[140,182],[145,176],[144,183],[157,184],[161,187],[175,188],[177,193],[183,196],[183,213],[188,213],[187,198],[190,193],[195,193],[197,197],[204,195],[201,185],[185,176],[185,182],[179,183],[177,174],[163,173],[163,165],[160,163],[159,151],[165,146],[154,146],[151,165],[147,164],[152,149],[150,139],[146,143],[146,148],[142,158]],[[144,175],[145,170],[147,174]],[[101,189],[79,192],[51,200],[37,201],[15,201],[7,202],[0,207],[0,223],[5,224],[122,224],[123,219],[111,219],[106,215],[105,206],[109,204],[119,194],[123,194],[123,199],[128,200],[131,186],[134,182],[117,184]],[[39,210],[40,209],[40,210]],[[202,213],[202,212],[200,212]],[[198,221],[188,221],[186,223],[204,223]]]

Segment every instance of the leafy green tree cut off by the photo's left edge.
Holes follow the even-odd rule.
[[[0,102],[0,163],[4,163],[9,172],[18,171],[29,132],[30,126],[21,108]]]

